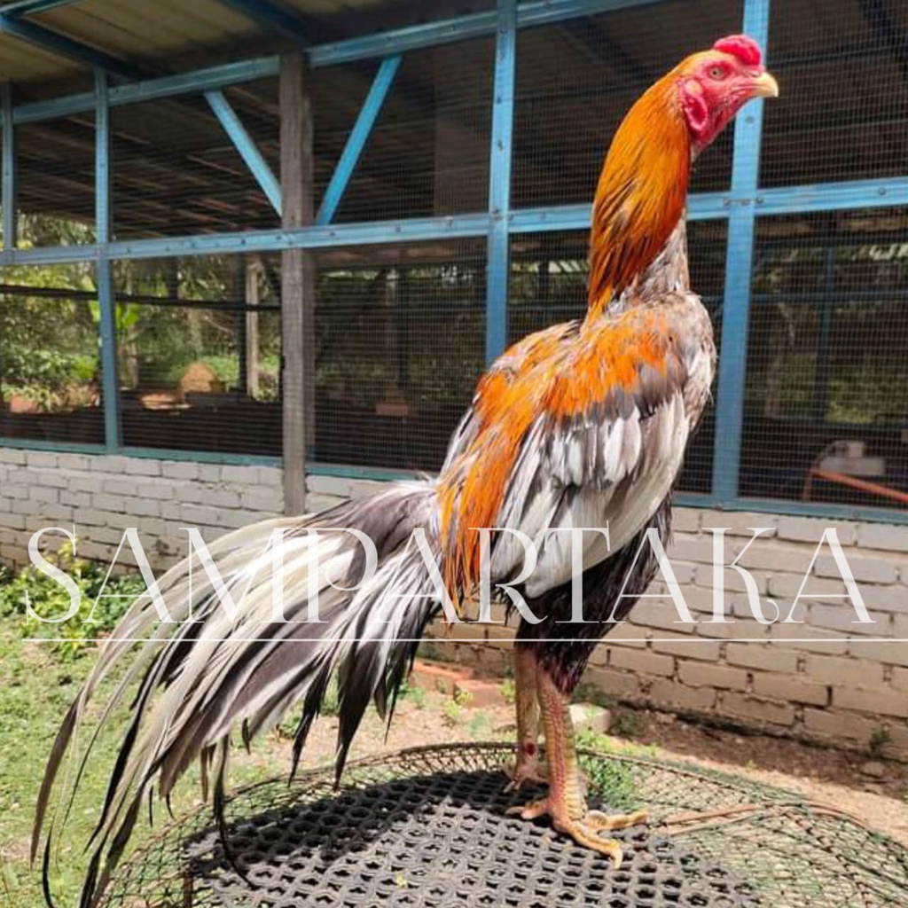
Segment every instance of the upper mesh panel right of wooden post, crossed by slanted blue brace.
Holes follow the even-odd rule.
[[[406,54],[369,143],[338,209],[341,222],[484,211],[489,192],[492,110],[491,39],[442,45]],[[364,95],[375,64],[345,66],[329,76],[345,97],[341,110]],[[316,84],[324,76],[316,74]],[[325,104],[331,104],[331,94]],[[317,99],[318,104],[318,99]],[[333,171],[346,133],[319,124],[339,118],[316,108],[316,150],[324,149],[319,173]],[[322,142],[324,144],[322,145]]]

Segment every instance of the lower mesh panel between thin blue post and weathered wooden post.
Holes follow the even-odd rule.
[[[278,261],[116,263],[124,445],[281,454]]]

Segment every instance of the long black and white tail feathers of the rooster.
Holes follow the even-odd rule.
[[[419,638],[441,607],[423,553],[411,544],[413,531],[421,528],[438,563],[438,514],[433,486],[414,482],[392,485],[314,517],[265,521],[209,547],[222,587],[202,569],[197,556],[159,581],[172,621],[162,621],[148,594],[136,600],[67,713],[44,774],[32,859],[43,837],[48,903],[52,904],[48,874],[55,834],[65,824],[100,731],[127,696],[133,696],[131,722],[88,846],[92,856],[82,908],[91,908],[104,893],[146,798],[151,804],[156,790],[169,801],[177,779],[198,758],[204,794],[207,797],[212,789],[212,804],[222,823],[232,731],[239,730],[248,745],[301,702],[293,742],[295,772],[335,673],[340,777],[370,701],[390,721]],[[336,528],[356,530],[374,543],[376,569],[359,588],[354,587],[363,577],[366,550],[355,535]],[[276,530],[282,531],[282,574],[272,570]],[[274,620],[273,611],[274,585],[280,577],[283,622]],[[320,623],[308,620],[313,588],[318,589]],[[235,606],[232,614],[224,607],[225,589]],[[77,737],[86,706],[127,654],[132,661],[80,751]],[[54,783],[67,754],[62,795],[51,812]]]

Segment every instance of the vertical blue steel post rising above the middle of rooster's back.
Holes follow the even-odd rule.
[[[517,0],[498,0],[492,148],[489,161],[489,262],[486,270],[486,362],[508,342],[511,147],[517,64]]]

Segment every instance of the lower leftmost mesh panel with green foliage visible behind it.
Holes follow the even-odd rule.
[[[104,442],[91,263],[8,269],[0,284],[0,438]]]

